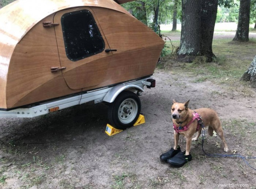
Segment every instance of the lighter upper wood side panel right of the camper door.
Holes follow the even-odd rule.
[[[152,29],[127,14],[97,7],[94,7],[93,11],[110,48],[117,50],[113,54],[164,44],[163,40]],[[143,58],[141,57],[141,60]]]

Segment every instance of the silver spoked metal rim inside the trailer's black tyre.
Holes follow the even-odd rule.
[[[118,108],[118,118],[124,124],[131,123],[138,113],[138,103],[132,99],[125,99]]]

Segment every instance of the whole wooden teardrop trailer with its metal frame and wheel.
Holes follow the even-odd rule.
[[[0,9],[0,117],[31,118],[94,101],[136,122],[164,41],[119,4],[17,0]]]

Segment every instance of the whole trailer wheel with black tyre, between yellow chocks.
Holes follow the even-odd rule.
[[[131,92],[121,92],[108,109],[110,124],[116,129],[127,129],[138,119],[141,109],[139,97]]]

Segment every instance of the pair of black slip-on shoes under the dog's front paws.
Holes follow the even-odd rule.
[[[160,155],[160,160],[167,161],[173,167],[180,168],[189,161],[192,160],[192,155],[185,155],[186,151],[182,152],[180,146],[178,146],[177,150],[171,148],[166,153]]]

